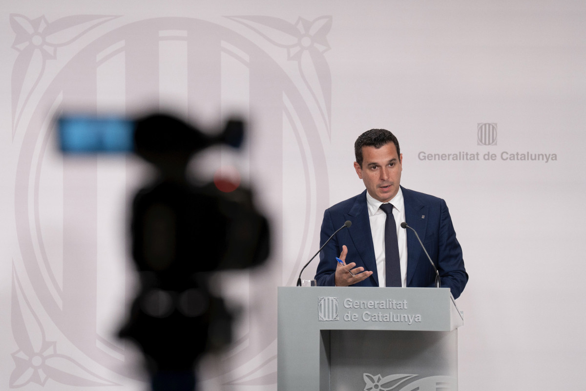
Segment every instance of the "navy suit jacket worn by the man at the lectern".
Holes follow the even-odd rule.
[[[450,288],[458,298],[468,282],[464,268],[462,247],[456,239],[448,206],[441,198],[427,195],[401,186],[405,203],[406,223],[419,234],[421,242],[430,254],[440,273],[441,287]],[[323,213],[320,246],[346,220],[352,226],[338,232],[323,248],[315,279],[320,286],[334,286],[336,257],[342,252],[342,245],[348,248],[346,263],[355,262],[356,267],[373,271],[372,276],[352,286],[377,287],[379,277],[374,258],[374,245],[370,233],[370,220],[366,203],[366,190],[360,195],[342,201]],[[399,224],[401,222],[397,222]],[[434,287],[435,271],[421,249],[415,234],[407,229],[407,286]]]

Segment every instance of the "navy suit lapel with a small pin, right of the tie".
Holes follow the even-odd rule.
[[[425,242],[425,229],[427,227],[425,216],[428,214],[428,206],[421,203],[410,190],[402,186],[401,190],[405,203],[405,222],[419,234],[421,242]],[[423,253],[421,244],[413,231],[407,228],[407,286],[410,286],[413,279],[421,253]]]

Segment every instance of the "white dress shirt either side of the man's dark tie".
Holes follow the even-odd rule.
[[[384,223],[387,221],[387,215],[380,206],[383,202],[376,200],[366,192],[366,203],[370,219],[370,232],[372,233],[372,243],[374,244],[374,257],[376,258],[376,270],[379,273],[379,287],[385,286],[385,259],[384,259]],[[401,287],[407,286],[407,230],[401,228],[401,223],[405,221],[405,203],[401,188],[397,195],[389,201],[393,204],[393,217],[397,225],[397,240],[399,246],[399,261],[401,263]]]

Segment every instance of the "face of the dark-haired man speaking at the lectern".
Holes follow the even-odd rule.
[[[354,162],[358,178],[362,179],[372,198],[389,202],[399,191],[403,154],[390,142],[380,148],[362,147],[362,167]]]

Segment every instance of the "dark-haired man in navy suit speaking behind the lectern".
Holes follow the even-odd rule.
[[[406,222],[419,234],[430,254],[440,274],[441,287],[450,288],[458,298],[468,274],[445,201],[400,186],[403,155],[391,132],[364,132],[356,140],[355,154],[356,174],[366,190],[323,214],[321,244],[346,220],[352,226],[341,230],[323,248],[315,276],[318,285],[434,287],[434,268],[415,234],[400,227]],[[393,206],[383,205],[387,203]],[[388,251],[394,253],[389,255]],[[336,261],[337,256],[345,264]]]

